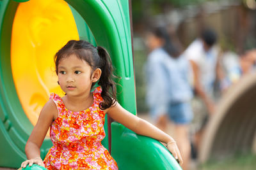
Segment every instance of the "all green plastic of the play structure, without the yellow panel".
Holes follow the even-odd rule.
[[[33,129],[17,96],[10,64],[12,22],[18,2],[23,1],[0,0],[0,167],[20,166],[26,159],[24,146]],[[118,102],[136,115],[129,1],[67,0],[67,3],[76,20],[79,38],[104,46],[110,53],[115,72],[122,77]],[[158,141],[136,135],[117,122],[111,127],[112,155],[120,169],[180,169]],[[108,147],[106,139],[104,146]],[[51,141],[45,139],[42,157],[51,145]]]

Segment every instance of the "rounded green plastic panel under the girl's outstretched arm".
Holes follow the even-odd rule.
[[[116,122],[112,130],[113,158],[120,169],[181,169],[159,141],[135,134]]]

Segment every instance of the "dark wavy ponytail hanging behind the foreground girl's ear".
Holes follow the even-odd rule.
[[[116,103],[116,83],[112,78],[116,78],[113,74],[113,67],[109,53],[102,46],[97,46],[97,52],[101,59],[100,69],[102,71],[99,85],[102,87],[101,96],[102,103],[99,104],[101,110],[106,110]]]

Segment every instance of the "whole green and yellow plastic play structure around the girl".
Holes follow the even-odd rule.
[[[0,1],[0,167],[19,167],[24,147],[50,92],[60,94],[53,56],[69,39],[104,46],[122,77],[118,101],[136,114],[129,1]],[[62,94],[63,95],[63,94]],[[108,123],[102,144],[120,169],[180,169],[161,143]],[[41,147],[44,158],[51,140]],[[111,146],[109,148],[108,146]]]

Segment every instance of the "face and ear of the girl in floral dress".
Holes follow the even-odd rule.
[[[88,95],[92,83],[100,78],[100,69],[92,67],[76,55],[61,59],[58,65],[58,79],[61,89],[69,96]]]

